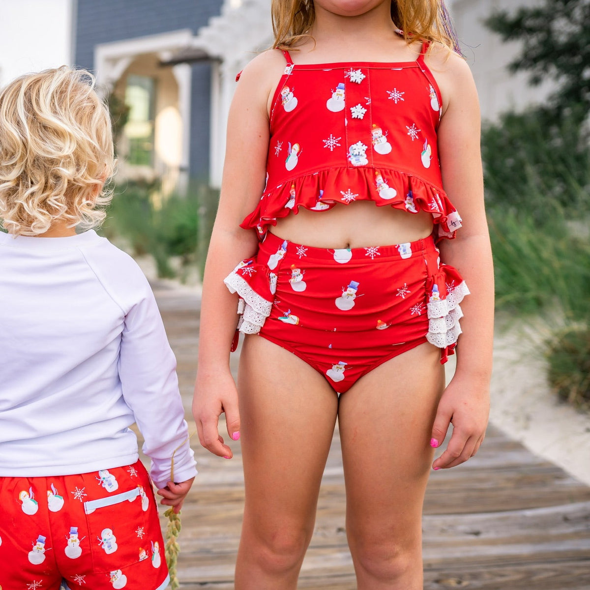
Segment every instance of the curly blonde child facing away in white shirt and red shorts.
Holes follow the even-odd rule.
[[[67,67],[0,93],[0,587],[163,590],[152,482],[178,512],[196,474],[148,281],[93,230],[109,112]],[[176,453],[175,453],[176,450]],[[171,458],[174,454],[174,483]]]

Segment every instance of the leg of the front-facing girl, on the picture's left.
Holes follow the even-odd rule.
[[[293,353],[247,336],[240,357],[245,508],[236,590],[294,590],[313,533],[337,396]]]

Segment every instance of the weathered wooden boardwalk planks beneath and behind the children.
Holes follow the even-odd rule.
[[[190,405],[199,300],[172,289],[157,289],[156,296],[194,429]],[[202,450],[196,435],[192,447],[200,473],[182,510],[181,588],[230,590],[244,500],[240,445],[232,442],[231,461]],[[299,588],[356,588],[344,514],[336,431]],[[424,566],[425,590],[590,590],[590,488],[490,427],[476,457],[432,474]]]

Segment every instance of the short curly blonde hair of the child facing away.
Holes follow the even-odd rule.
[[[106,217],[113,136],[94,83],[64,65],[0,93],[0,218],[11,234],[42,234],[58,220],[89,229]]]

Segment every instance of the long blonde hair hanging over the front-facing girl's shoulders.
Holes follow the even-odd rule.
[[[273,0],[273,49],[289,49],[304,37],[315,21],[313,0]],[[391,19],[403,31],[408,44],[438,41],[457,50],[442,0],[391,0]]]

